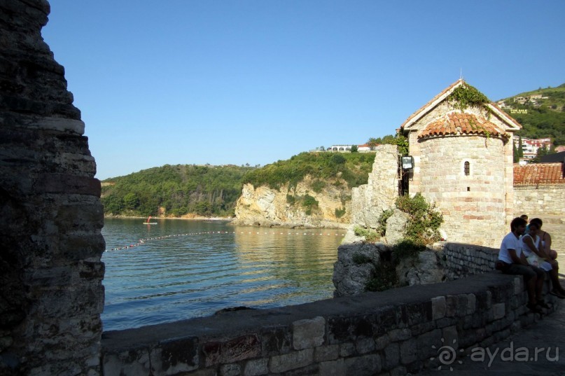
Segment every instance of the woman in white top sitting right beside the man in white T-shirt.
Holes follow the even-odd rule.
[[[538,222],[532,220],[529,232],[522,236],[521,239],[522,254],[526,257],[530,265],[539,267],[541,270],[550,274],[550,279],[553,285],[551,293],[557,296],[557,298],[565,299],[565,294],[561,293],[562,288],[559,284],[559,264],[557,263],[557,260],[550,259],[547,253],[543,250],[543,246],[540,244],[540,237],[538,236],[539,230],[540,227]],[[544,304],[539,304],[538,302],[540,307],[544,307]]]

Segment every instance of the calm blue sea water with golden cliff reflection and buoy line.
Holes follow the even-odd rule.
[[[104,330],[330,298],[343,230],[106,218]],[[140,243],[140,239],[144,242]]]

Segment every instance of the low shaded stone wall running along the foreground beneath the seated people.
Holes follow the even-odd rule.
[[[550,295],[550,311],[556,300]],[[490,272],[279,309],[225,312],[106,332],[103,372],[405,375],[437,368],[444,344],[463,356],[459,349],[487,347],[532,323],[525,303],[521,277]]]

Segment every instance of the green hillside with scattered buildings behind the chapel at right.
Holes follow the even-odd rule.
[[[531,97],[542,95],[543,99],[519,104],[515,97]],[[541,139],[551,137],[554,146],[565,145],[565,84],[557,88],[539,88],[530,92],[522,92],[513,97],[501,99],[506,106],[503,110],[515,118],[523,127],[518,136]],[[527,113],[513,113],[512,110],[527,110]]]

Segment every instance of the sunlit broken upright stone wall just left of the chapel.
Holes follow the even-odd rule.
[[[398,197],[398,152],[395,145],[379,145],[368,183],[351,189],[351,223],[377,228],[382,211]]]

